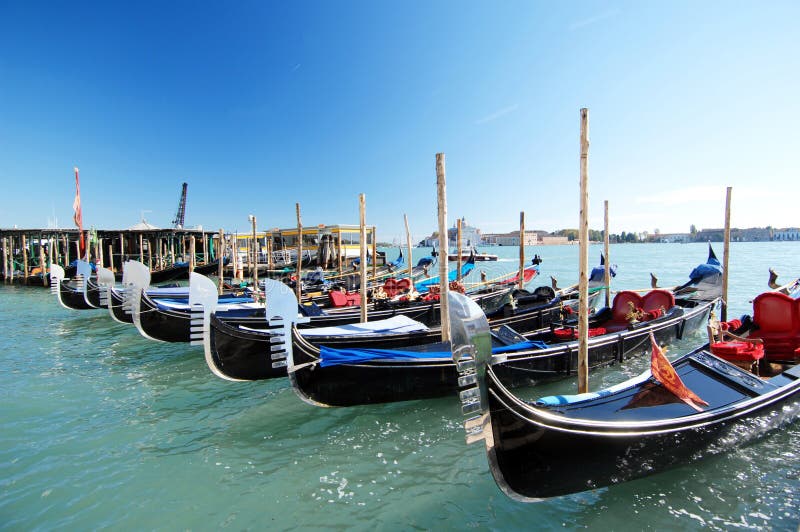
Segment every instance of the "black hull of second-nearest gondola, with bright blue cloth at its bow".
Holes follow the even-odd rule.
[[[672,317],[657,320],[646,327],[592,339],[589,364],[600,367],[640,356],[648,351],[649,335],[667,343],[696,327],[708,318],[709,302],[689,311],[678,309]],[[694,329],[692,329],[694,330]],[[409,335],[411,336],[411,335]],[[357,347],[358,339],[348,347]],[[330,343],[326,347],[333,347]],[[413,340],[407,346],[419,345]],[[404,346],[393,346],[393,348]],[[422,350],[422,349],[420,349]],[[448,346],[432,344],[425,351],[448,351]],[[577,343],[569,342],[547,349],[500,355],[498,366],[509,386],[533,385],[566,377],[577,372]],[[409,401],[452,394],[458,389],[458,372],[452,360],[376,360],[360,364],[323,367],[320,351],[299,333],[292,342],[289,376],[295,391],[310,403],[321,406]]]

